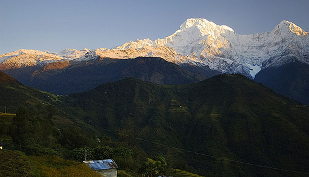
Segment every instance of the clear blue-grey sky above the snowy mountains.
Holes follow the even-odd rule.
[[[228,25],[239,34],[269,31],[282,20],[309,31],[308,17],[309,0],[0,0],[0,54],[113,48],[168,36],[188,18]]]

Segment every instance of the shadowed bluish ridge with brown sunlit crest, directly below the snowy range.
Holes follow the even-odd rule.
[[[207,78],[203,74],[210,69],[200,69],[203,74],[198,74],[161,58],[138,57],[124,60],[98,57],[85,62],[55,62],[30,74],[28,70],[30,68],[5,72],[20,79],[25,85],[65,95],[89,91],[101,83],[126,77],[135,77],[156,84],[187,84]],[[23,72],[25,73],[20,74]]]

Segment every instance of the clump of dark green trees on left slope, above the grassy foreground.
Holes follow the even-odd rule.
[[[58,127],[52,121],[52,115],[33,116],[23,107],[18,109],[16,117],[9,126],[15,149],[27,155],[56,155],[53,149],[74,149],[94,145],[93,140],[78,126]]]

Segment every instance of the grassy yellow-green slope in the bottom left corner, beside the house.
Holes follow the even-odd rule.
[[[84,163],[57,156],[28,157],[20,151],[1,150],[0,157],[0,176],[100,176]]]

